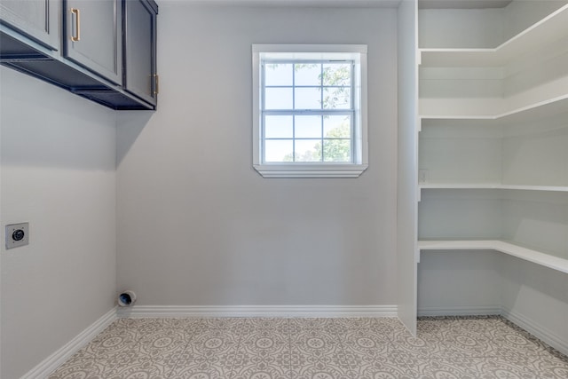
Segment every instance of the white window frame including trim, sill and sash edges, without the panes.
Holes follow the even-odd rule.
[[[261,64],[264,59],[352,59],[353,162],[263,162]],[[367,45],[253,44],[253,167],[264,178],[357,178],[367,170]]]

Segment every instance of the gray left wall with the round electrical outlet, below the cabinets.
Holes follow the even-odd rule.
[[[2,362],[17,378],[114,306],[115,115],[0,67]],[[28,221],[27,247],[4,225]]]

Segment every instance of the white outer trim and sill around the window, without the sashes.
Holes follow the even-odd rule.
[[[354,143],[359,154],[354,163],[264,163],[261,162],[260,137],[260,91],[261,88],[261,53],[290,53],[289,58],[298,55],[316,53],[355,53],[360,63],[360,104],[356,114],[357,123]],[[294,54],[294,53],[297,53]],[[368,167],[367,152],[367,45],[364,44],[253,44],[252,45],[252,82],[253,82],[253,167],[264,178],[357,178]],[[356,96],[356,94],[354,94]]]

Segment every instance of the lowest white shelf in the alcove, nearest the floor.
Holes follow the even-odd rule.
[[[526,249],[516,244],[498,241],[418,241],[420,250],[496,250],[512,257],[524,259],[533,264],[568,273],[568,259],[544,254],[533,249]]]

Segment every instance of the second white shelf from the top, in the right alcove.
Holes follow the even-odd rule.
[[[568,29],[568,27],[566,27]],[[509,125],[515,122],[532,122],[542,117],[554,116],[557,114],[568,113],[568,94],[559,96],[554,99],[540,101],[528,107],[521,107],[502,114],[484,114],[484,115],[428,115],[422,114],[421,126],[428,124],[472,124],[486,126]]]

